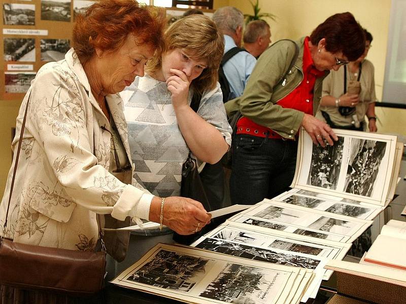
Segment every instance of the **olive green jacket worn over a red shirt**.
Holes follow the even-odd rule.
[[[292,92],[303,80],[304,37],[296,42],[299,55],[293,68],[288,71],[295,55],[295,46],[289,41],[280,41],[269,47],[259,57],[242,96],[226,102],[228,116],[240,110],[244,117],[270,128],[284,138],[294,139],[300,128],[304,113],[276,104]],[[313,113],[320,103],[322,82],[327,76],[318,78],[314,87]],[[286,78],[286,81],[285,81]]]

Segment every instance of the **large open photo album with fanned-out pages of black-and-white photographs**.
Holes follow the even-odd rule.
[[[290,191],[246,206],[190,246],[156,245],[112,283],[188,303],[316,297],[331,262],[393,198],[403,149],[396,136],[334,132],[339,140],[325,148],[300,132]]]

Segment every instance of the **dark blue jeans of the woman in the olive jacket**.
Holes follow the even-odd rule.
[[[232,142],[232,204],[253,205],[289,189],[297,141],[236,134]]]

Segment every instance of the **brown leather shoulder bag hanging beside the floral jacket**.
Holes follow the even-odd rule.
[[[18,141],[4,233],[7,227],[30,97],[31,93],[28,96]],[[100,226],[99,233],[103,247],[103,234]],[[90,295],[103,288],[105,268],[105,252],[77,251],[21,244],[5,239],[4,235],[0,235],[0,285],[22,289],[40,289],[75,296]]]

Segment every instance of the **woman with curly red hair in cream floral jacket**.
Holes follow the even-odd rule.
[[[22,102],[0,205],[1,235],[25,244],[94,250],[97,214],[121,221],[152,220],[180,234],[195,231],[197,221],[200,228],[210,221],[200,203],[180,197],[164,202],[132,179],[127,125],[117,93],[137,75],[144,76],[146,62],[162,50],[164,25],[163,11],[133,0],[102,0],[78,16],[73,48],[64,60],[38,71]]]

